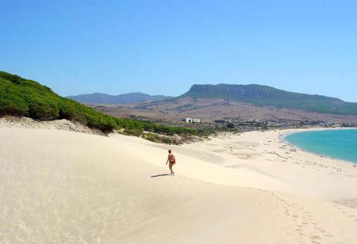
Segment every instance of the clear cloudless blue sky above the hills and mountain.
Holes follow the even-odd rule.
[[[62,96],[224,82],[357,101],[357,1],[0,0],[0,70]]]

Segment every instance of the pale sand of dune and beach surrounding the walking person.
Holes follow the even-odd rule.
[[[290,149],[0,128],[0,243],[356,243],[357,168]]]

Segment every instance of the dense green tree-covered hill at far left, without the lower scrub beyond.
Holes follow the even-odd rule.
[[[31,117],[35,120],[76,120],[88,127],[109,132],[116,119],[76,101],[64,99],[34,80],[0,72],[0,115]]]

